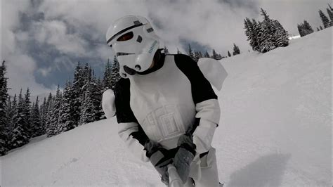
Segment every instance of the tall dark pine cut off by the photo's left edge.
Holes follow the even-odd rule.
[[[5,155],[8,150],[8,88],[5,61],[0,65],[0,156]],[[8,104],[8,105],[7,105]]]

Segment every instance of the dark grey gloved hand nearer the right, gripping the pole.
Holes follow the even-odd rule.
[[[178,139],[179,149],[174,157],[174,166],[177,169],[178,175],[185,183],[190,174],[190,165],[195,157],[195,144],[191,134],[183,134]]]

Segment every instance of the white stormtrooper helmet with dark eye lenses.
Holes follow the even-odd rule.
[[[115,51],[119,74],[124,78],[148,70],[156,51],[163,49],[150,22],[136,15],[116,20],[107,30],[106,41]]]

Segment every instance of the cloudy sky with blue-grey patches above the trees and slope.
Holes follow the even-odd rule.
[[[112,51],[105,32],[113,20],[142,15],[152,22],[171,53],[215,49],[226,56],[233,43],[251,49],[243,19],[261,20],[262,7],[292,35],[308,20],[322,25],[329,0],[1,0],[1,60],[6,60],[11,94],[29,86],[33,95],[71,79],[75,65],[89,63],[102,76]]]

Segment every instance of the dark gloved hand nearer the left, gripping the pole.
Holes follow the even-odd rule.
[[[161,181],[169,185],[169,174],[167,166],[171,164],[173,158],[168,150],[162,148],[159,143],[148,141],[145,143],[146,156],[150,158],[150,162],[161,175]]]

